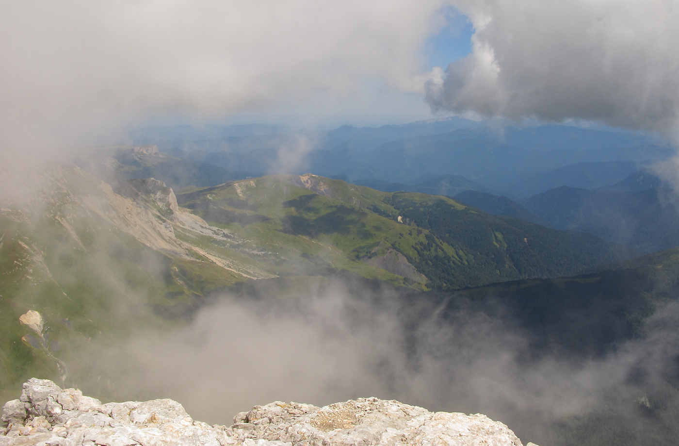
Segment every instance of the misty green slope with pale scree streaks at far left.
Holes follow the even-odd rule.
[[[163,216],[174,213],[168,188],[141,188],[133,201],[79,169],[43,182],[31,201],[1,206],[0,389],[36,375],[71,379],[77,372],[62,365],[89,339],[162,328],[156,314],[181,315],[244,279],[175,237]],[[188,214],[177,221],[178,235],[186,222],[194,237],[208,233]],[[20,323],[29,310],[41,313],[44,330]]]

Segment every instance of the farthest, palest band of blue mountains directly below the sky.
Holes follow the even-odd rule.
[[[342,126],[331,131],[256,125],[212,126],[202,131],[156,128],[144,135],[153,138],[143,142],[155,143],[173,156],[230,171],[280,172],[283,166],[289,173],[403,184],[414,184],[421,177],[462,175],[483,179],[479,182],[484,186],[509,195],[515,194],[509,191],[516,188],[513,184],[524,182],[512,175],[545,173],[576,163],[618,162],[581,166],[579,173],[572,173],[587,171],[592,179],[606,179],[593,187],[607,186],[641,167],[631,163],[661,160],[674,153],[656,137],[641,133],[557,124],[500,126],[462,118],[375,128]],[[570,181],[566,185],[592,187],[566,179]],[[522,193],[560,185],[535,184]]]

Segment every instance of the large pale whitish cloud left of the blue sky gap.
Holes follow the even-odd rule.
[[[441,3],[3,1],[0,142],[344,95],[365,76],[411,88]]]

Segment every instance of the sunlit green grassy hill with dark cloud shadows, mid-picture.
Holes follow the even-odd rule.
[[[360,205],[366,199],[344,182],[324,179],[319,191],[328,193],[337,184],[344,186],[334,188],[336,198],[331,198],[304,187],[300,177],[280,175],[194,190],[177,199],[208,223],[248,240],[260,257],[278,258],[268,265],[272,274],[342,269],[392,284],[424,284],[426,278],[412,267],[404,277],[369,262],[394,250],[414,256],[412,246],[424,241],[424,235],[407,233],[396,215],[385,217],[394,210],[380,202],[383,192],[371,190],[367,209]],[[405,258],[401,264],[408,269]]]

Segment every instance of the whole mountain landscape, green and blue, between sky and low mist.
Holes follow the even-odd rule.
[[[674,322],[657,319],[676,303],[676,205],[671,185],[644,166],[671,148],[646,135],[564,127],[339,128],[299,152],[295,169],[313,173],[272,173],[310,135],[268,127],[213,129],[231,144],[225,150],[217,139],[181,139],[191,136],[186,128],[162,150],[81,150],[43,173],[29,199],[2,203],[0,389],[40,375],[116,398],[113,383],[95,385],[79,366],[82,352],[142,328],[172,332],[227,295],[303,306],[302,291],[329,280],[375,314],[399,309],[413,370],[426,350],[415,340],[432,324],[454,330],[469,314],[481,326],[511,327],[527,364],[605,361],[665,339]],[[540,190],[578,181],[592,189]],[[40,312],[43,330],[30,329],[28,311]],[[592,444],[593,432],[598,444],[620,444],[607,425],[638,444],[648,432],[671,444],[674,351],[640,362],[634,385],[589,412],[559,418],[553,444]],[[642,415],[629,418],[634,411]]]

